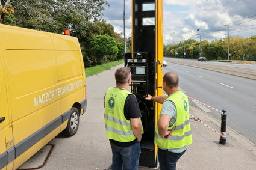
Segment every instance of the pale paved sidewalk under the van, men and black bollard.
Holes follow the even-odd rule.
[[[60,135],[49,142],[54,149],[40,170],[109,169],[112,154],[104,126],[104,94],[108,87],[114,87],[114,72],[122,66],[119,65],[96,76],[87,77],[87,109],[86,114],[80,117],[77,134],[71,138],[63,138]],[[190,114],[220,132],[220,119],[216,120],[196,106],[192,106],[193,102],[189,102]],[[217,133],[193,118],[190,118],[190,122],[193,144],[189,145],[186,153],[178,161],[178,170],[256,169],[256,146],[251,141],[226,127],[227,144],[220,145],[220,136]],[[36,169],[46,161],[48,151],[41,150],[38,153],[39,156],[33,156],[34,160],[30,159],[24,163],[23,169]],[[42,154],[46,156],[45,159],[40,158]],[[140,167],[139,169],[152,168]]]

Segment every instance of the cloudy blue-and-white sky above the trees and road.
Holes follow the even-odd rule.
[[[125,32],[131,37],[131,1],[125,0]],[[107,0],[110,7],[102,19],[123,32],[123,0]],[[220,40],[230,36],[256,35],[255,0],[163,0],[164,44],[176,44],[189,38],[196,41]],[[228,26],[223,26],[228,25]]]

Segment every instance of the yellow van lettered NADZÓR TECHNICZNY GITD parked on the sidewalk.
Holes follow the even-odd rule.
[[[0,24],[0,169],[17,169],[86,110],[77,38]]]

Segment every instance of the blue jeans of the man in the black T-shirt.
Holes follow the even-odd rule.
[[[111,170],[137,170],[140,159],[140,142],[129,147],[118,147],[110,142],[112,149]]]

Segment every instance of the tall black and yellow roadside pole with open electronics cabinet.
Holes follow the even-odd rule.
[[[132,52],[125,53],[131,67],[131,92],[137,97],[144,134],[140,166],[156,167],[155,127],[161,104],[144,99],[163,95],[163,0],[132,0]]]

